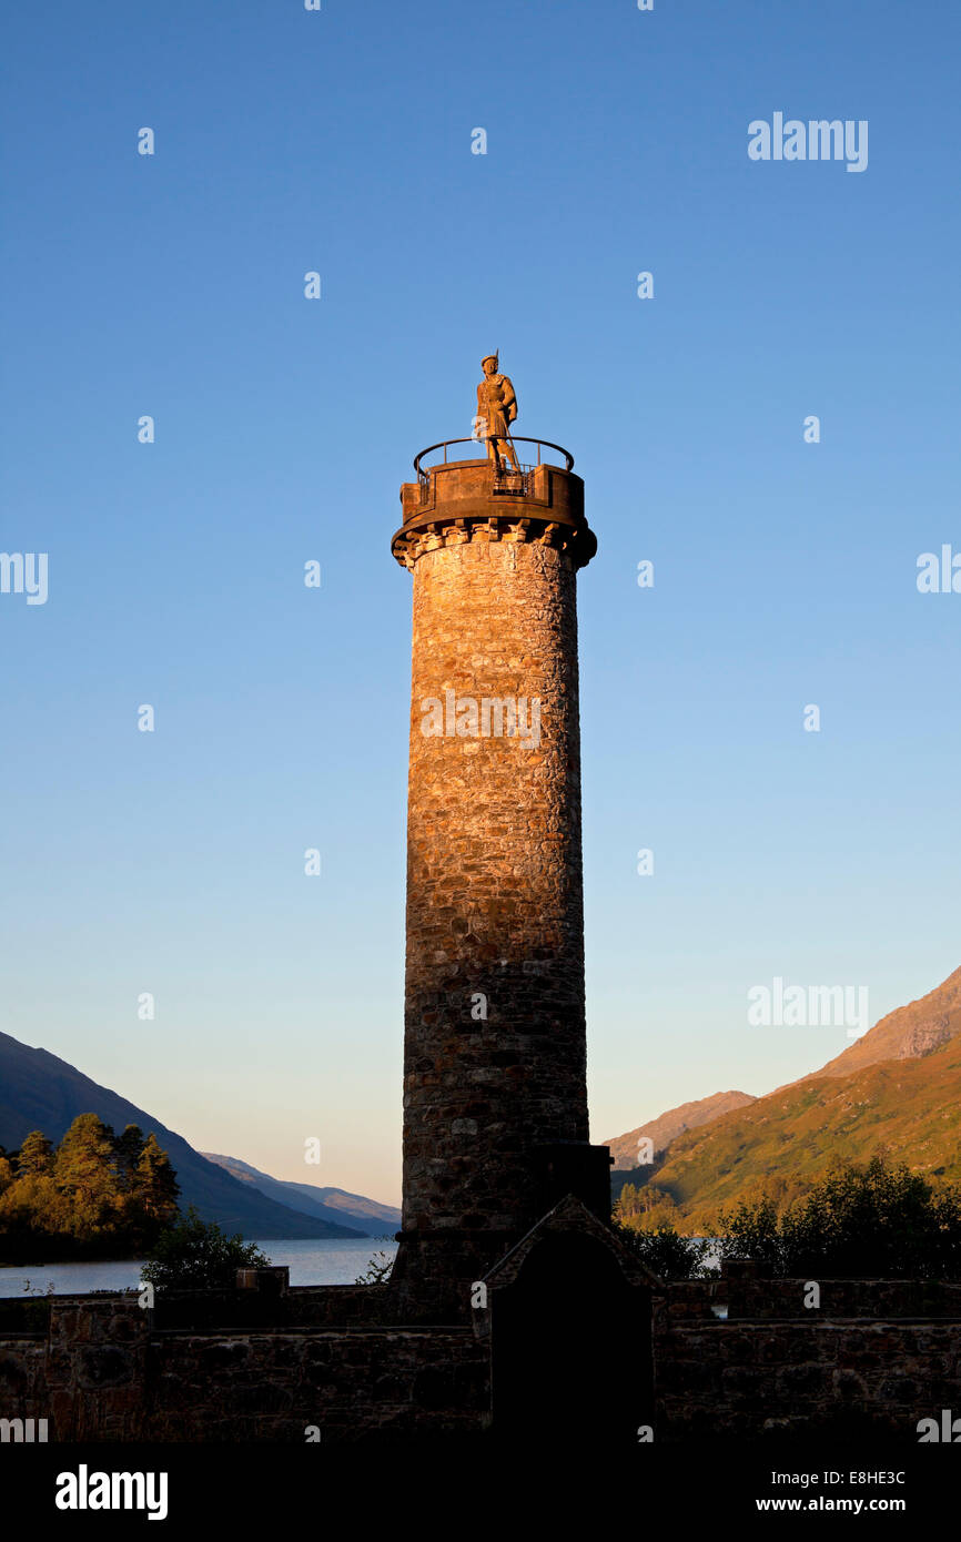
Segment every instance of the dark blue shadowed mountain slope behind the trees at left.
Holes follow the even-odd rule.
[[[207,1161],[188,1143],[168,1130],[153,1113],[100,1087],[74,1066],[48,1050],[20,1044],[0,1033],[0,1146],[14,1150],[31,1130],[59,1141],[79,1113],[97,1113],[117,1133],[125,1124],[151,1132],[168,1153],[180,1184],[180,1207],[196,1206],[205,1221],[250,1238],[362,1237],[366,1232],[278,1204],[247,1183],[239,1183],[216,1163]]]

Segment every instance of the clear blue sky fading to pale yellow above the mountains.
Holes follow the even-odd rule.
[[[845,1045],[748,1027],[754,984],[867,985],[873,1021],[961,962],[961,594],[915,581],[961,552],[959,43],[947,0],[8,19],[0,549],[49,597],[0,595],[5,1032],[201,1149],[302,1180],[319,1136],[310,1181],[398,1198],[389,538],[495,345],[600,540],[594,1138]],[[867,170],[751,162],[776,111],[867,120]]]

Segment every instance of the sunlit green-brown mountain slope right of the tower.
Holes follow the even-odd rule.
[[[677,1206],[683,1231],[762,1189],[802,1192],[838,1160],[879,1150],[961,1184],[961,970],[889,1013],[810,1076],[676,1136],[660,1164],[631,1173]],[[626,1140],[626,1136],[625,1136]],[[623,1175],[622,1175],[623,1181]]]

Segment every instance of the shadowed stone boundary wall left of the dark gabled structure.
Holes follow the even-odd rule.
[[[318,1308],[316,1294],[301,1305]],[[180,1329],[151,1317],[136,1295],[51,1297],[48,1334],[0,1335],[0,1419],[48,1419],[48,1439],[66,1442],[299,1443],[307,1426],[353,1440],[489,1422],[489,1351],[470,1328]]]

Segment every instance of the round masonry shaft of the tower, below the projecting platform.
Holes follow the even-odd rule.
[[[540,745],[424,736],[447,689],[538,700]],[[575,574],[443,547],[413,569],[404,1227],[535,1220],[524,1153],[588,1140],[585,1056]]]

